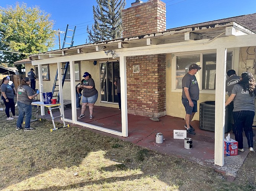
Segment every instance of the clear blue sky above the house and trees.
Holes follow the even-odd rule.
[[[146,2],[147,0],[142,0]],[[256,13],[256,0],[162,0],[166,3],[166,28],[171,29],[200,22],[213,21],[229,18],[243,14]],[[55,22],[53,29],[61,31],[74,29],[74,46],[86,43],[86,27],[94,23],[92,5],[96,0],[0,0],[0,6],[15,6],[16,2],[27,3],[28,7],[39,6],[41,10],[51,14]],[[129,8],[135,0],[126,0],[126,7]],[[61,47],[64,35],[60,35]],[[68,40],[67,40],[68,42]],[[56,35],[56,46],[58,49],[58,38]],[[66,47],[66,46],[65,46]]]

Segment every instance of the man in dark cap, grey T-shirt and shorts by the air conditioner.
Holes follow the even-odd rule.
[[[184,126],[187,129],[187,133],[195,135],[194,128],[190,125],[194,114],[197,112],[197,100],[199,100],[199,86],[196,80],[196,72],[200,70],[197,64],[191,64],[188,73],[182,78],[182,104],[186,110]]]

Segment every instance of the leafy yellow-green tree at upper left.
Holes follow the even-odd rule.
[[[28,54],[11,52],[37,54],[52,48],[55,40],[52,27],[50,14],[37,6],[30,8],[26,3],[17,3],[14,8],[0,7],[0,50],[3,50],[0,61],[12,67],[15,61],[28,58]]]

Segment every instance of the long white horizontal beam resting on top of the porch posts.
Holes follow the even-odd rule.
[[[148,46],[125,48],[125,49],[115,49],[115,54],[119,57],[120,54],[123,56],[140,56],[147,54],[168,54],[168,53],[178,53],[187,51],[202,51],[211,50],[218,47],[225,48],[239,48],[246,46],[256,46],[256,34],[252,35],[242,35],[242,36],[230,36],[230,37],[219,37],[215,39],[204,39],[196,41],[185,41],[180,43],[170,43],[163,45],[152,45],[150,48]],[[44,60],[34,60],[32,65],[37,64],[50,64],[56,62],[66,62],[68,60],[95,60],[95,59],[107,59],[111,58],[104,51],[86,53],[86,54],[76,54],[71,56],[63,56],[56,58],[49,58]]]

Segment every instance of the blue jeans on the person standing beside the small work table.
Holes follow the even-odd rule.
[[[17,127],[21,127],[24,116],[26,115],[25,129],[30,128],[30,119],[32,117],[32,106],[27,105],[25,103],[21,103],[21,102],[17,102],[17,105],[19,108],[19,117],[17,119]]]

